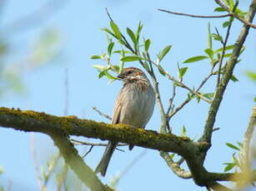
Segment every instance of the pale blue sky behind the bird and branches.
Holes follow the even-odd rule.
[[[5,32],[8,23],[16,21],[30,12],[38,9],[47,1],[38,0],[9,0],[1,14],[2,32]],[[54,1],[53,1],[54,2]],[[93,110],[97,106],[109,115],[112,114],[113,104],[122,84],[114,82],[108,85],[108,80],[98,80],[98,72],[92,67],[94,64],[102,64],[103,61],[94,61],[90,56],[106,51],[106,37],[100,28],[108,27],[108,17],[105,7],[108,7],[112,17],[118,23],[120,29],[125,32],[126,27],[135,28],[138,22],[143,22],[143,37],[149,37],[152,41],[151,53],[155,58],[156,53],[163,47],[173,45],[172,50],[163,60],[163,67],[173,76],[177,75],[177,62],[186,60],[191,56],[203,55],[207,48],[207,25],[211,22],[213,27],[221,27],[223,19],[198,19],[191,17],[173,16],[164,12],[158,12],[157,8],[165,8],[176,12],[187,12],[199,15],[218,14],[213,12],[213,1],[183,0],[183,1],[66,1],[58,12],[50,15],[37,27],[31,27],[26,31],[15,31],[4,34],[12,43],[13,55],[8,56],[8,63],[23,59],[29,48],[33,48],[33,42],[38,35],[48,28],[56,28],[62,33],[63,52],[61,58],[54,63],[48,64],[36,71],[28,71],[23,75],[26,91],[22,95],[3,97],[2,106],[20,108],[21,110],[37,110],[52,115],[63,115],[65,102],[64,71],[68,68],[69,81],[69,109],[68,115],[78,115],[79,118],[105,121]],[[247,10],[250,1],[240,2],[240,8]],[[235,22],[231,31],[228,44],[233,44],[238,37],[242,24]],[[243,132],[248,125],[248,117],[253,108],[253,96],[255,96],[255,84],[248,80],[244,71],[255,71],[256,62],[256,30],[251,29],[243,52],[242,61],[234,71],[238,82],[232,81],[224,95],[223,103],[218,112],[215,127],[220,130],[213,133],[213,147],[208,152],[205,166],[209,171],[222,172],[224,162],[230,162],[233,150],[228,149],[226,142],[235,143],[243,140]],[[215,42],[214,42],[215,43]],[[218,42],[213,45],[220,47]],[[58,62],[58,63],[57,63]],[[137,62],[128,63],[127,66],[138,66]],[[190,87],[198,86],[199,81],[208,73],[208,61],[189,64],[188,75],[184,83]],[[172,93],[169,81],[163,76],[158,76],[160,91],[163,95],[164,104],[168,103],[168,96]],[[203,88],[203,92],[213,90],[213,81]],[[175,105],[179,105],[185,98],[183,90],[178,91]],[[171,125],[173,132],[179,134],[183,125],[188,130],[188,135],[193,138],[199,137],[206,120],[208,105],[195,100],[185,107],[184,110],[173,117]],[[152,119],[147,125],[149,130],[158,130],[159,114],[156,107]],[[33,157],[30,149],[31,134],[16,130],[1,129],[0,134],[0,166],[5,173],[1,175],[1,183],[7,184],[12,181],[11,190],[39,190],[36,174],[33,167]],[[51,154],[57,149],[53,141],[45,135],[35,134],[38,150],[38,163],[45,164]],[[81,140],[86,140],[82,139]],[[96,141],[96,140],[90,140]],[[80,146],[81,148],[81,146]],[[88,149],[88,148],[87,148]],[[132,152],[116,151],[108,167],[106,178],[103,182],[108,183],[113,175],[125,169],[131,161],[143,152],[143,148],[134,148]],[[84,154],[84,149],[81,153]],[[86,157],[87,164],[93,169],[98,164],[103,154],[103,148],[94,148]],[[155,150],[147,149],[147,154],[140,159],[132,169],[128,171],[118,184],[118,189],[127,190],[205,190],[193,184],[193,180],[179,179],[168,169],[163,159]],[[49,190],[55,190],[53,188]]]

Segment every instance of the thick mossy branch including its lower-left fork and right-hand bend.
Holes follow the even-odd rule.
[[[188,138],[171,134],[158,134],[152,130],[134,129],[128,125],[108,125],[93,120],[79,120],[73,116],[58,117],[32,110],[14,110],[0,107],[0,125],[14,130],[40,132],[49,135],[63,154],[67,164],[92,190],[106,190],[93,170],[68,140],[68,135],[85,136],[101,140],[115,140],[148,149],[158,149],[180,154],[186,160],[193,180],[200,186],[213,186],[216,181],[235,181],[234,174],[210,173],[203,167],[198,157],[205,144],[194,143]],[[95,184],[95,182],[97,184]],[[98,189],[94,187],[98,186]]]

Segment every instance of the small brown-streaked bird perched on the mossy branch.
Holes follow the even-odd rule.
[[[123,81],[113,109],[112,124],[131,125],[134,128],[145,128],[153,115],[155,94],[153,86],[143,71],[137,67],[127,67],[117,76]],[[109,161],[118,142],[108,141],[103,157],[95,173],[105,176]],[[133,145],[129,145],[133,149]]]

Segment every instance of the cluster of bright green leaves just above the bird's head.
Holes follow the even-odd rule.
[[[109,40],[108,38],[108,55],[106,53],[103,53],[101,56],[91,56],[91,59],[101,59],[107,62],[107,66],[93,65],[93,67],[95,67],[99,72],[99,78],[106,76],[110,80],[116,80],[117,78],[115,78],[111,74],[111,71],[119,73],[123,70],[124,63],[131,61],[138,61],[146,71],[151,70],[150,66],[152,66],[153,63],[152,61],[149,61],[150,59],[148,57],[148,50],[151,44],[151,40],[148,38],[146,40],[144,39],[143,42],[140,42],[142,29],[143,24],[141,22],[138,23],[138,27],[135,32],[133,32],[133,30],[129,27],[126,28],[127,35],[132,42],[132,45],[130,45],[125,35],[119,30],[118,25],[116,23],[110,22],[110,28],[103,28],[104,32],[106,32],[108,35],[112,36],[115,40],[117,40],[119,44],[126,48],[126,50],[123,50],[123,47],[121,47],[121,50],[113,50],[114,42],[112,42],[112,39]],[[141,47],[143,47],[143,50]],[[159,54],[157,55],[158,59],[154,63],[155,65],[158,65],[158,71],[163,76],[166,76],[167,73],[163,70],[163,67],[159,65],[159,62],[162,61],[163,58],[168,54],[168,52],[171,50],[171,47],[172,46],[164,47],[163,50],[160,51]],[[113,65],[111,61],[113,53],[119,53],[120,55],[119,66]],[[180,76],[183,77],[187,70],[187,67],[182,68],[181,71],[179,71]]]

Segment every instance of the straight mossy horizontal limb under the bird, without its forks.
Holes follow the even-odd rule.
[[[51,135],[54,130],[62,130],[66,135],[115,140],[148,149],[174,152],[187,157],[192,154],[188,150],[193,151],[197,145],[188,138],[159,134],[153,130],[135,129],[129,125],[108,125],[94,120],[80,120],[74,116],[58,117],[33,110],[23,111],[4,107],[0,107],[0,125],[48,135]]]

